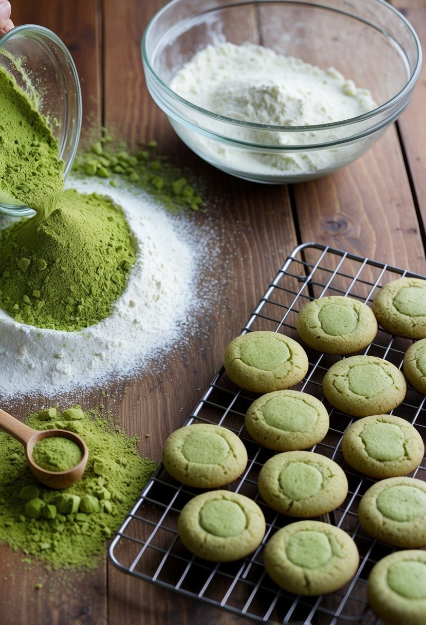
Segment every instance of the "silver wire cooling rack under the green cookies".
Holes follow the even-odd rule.
[[[381,286],[401,276],[424,277],[320,244],[300,245],[287,258],[242,332],[272,330],[298,339],[295,321],[306,302],[316,297],[344,295],[371,303]],[[379,356],[401,367],[409,345],[407,339],[379,329],[374,342],[359,353]],[[273,452],[259,447],[244,427],[245,412],[257,396],[235,386],[223,367],[186,425],[194,422],[220,424],[244,441],[249,456],[247,469],[229,488],[259,504],[267,522],[264,542],[251,557],[237,562],[215,564],[192,556],[179,540],[176,521],[182,507],[200,491],[174,481],[161,466],[109,548],[111,561],[121,571],[258,622],[304,625],[335,625],[360,620],[363,625],[379,622],[367,605],[367,577],[375,562],[394,549],[372,539],[359,525],[359,501],[374,481],[357,473],[344,461],[340,442],[353,419],[333,409],[322,394],[322,377],[339,356],[326,356],[306,346],[305,349],[309,371],[295,388],[322,399],[330,414],[329,432],[312,451],[338,462],[349,482],[349,492],[342,506],[320,519],[344,529],[357,544],[360,565],[352,581],[332,594],[301,597],[280,589],[265,572],[263,545],[277,529],[297,519],[277,514],[262,501],[257,491],[260,468]],[[404,403],[394,414],[414,424],[425,440],[424,402],[425,397],[409,387]],[[411,475],[426,480],[425,462]]]

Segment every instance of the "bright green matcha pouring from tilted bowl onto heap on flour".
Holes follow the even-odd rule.
[[[0,191],[36,211],[0,232],[0,307],[19,323],[75,331],[110,314],[136,250],[114,202],[63,190],[47,120],[0,67]]]

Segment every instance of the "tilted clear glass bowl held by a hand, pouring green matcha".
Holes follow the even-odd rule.
[[[2,67],[32,102],[34,92],[37,94],[37,108],[50,121],[66,178],[76,155],[82,118],[80,83],[71,54],[54,32],[34,24],[17,26],[0,37],[0,53]],[[0,212],[34,214],[31,208],[1,196]]]

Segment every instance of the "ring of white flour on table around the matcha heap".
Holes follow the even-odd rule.
[[[111,315],[81,332],[19,324],[0,309],[2,399],[52,397],[132,373],[176,343],[195,306],[196,252],[186,234],[176,232],[176,221],[142,194],[95,179],[67,186],[109,195],[123,207],[139,249],[137,262]]]

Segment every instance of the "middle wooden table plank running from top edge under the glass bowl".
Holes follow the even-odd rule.
[[[200,236],[207,232],[217,253],[210,273],[215,296],[207,316],[199,319],[196,336],[180,348],[178,358],[166,356],[161,374],[145,374],[131,384],[126,402],[134,409],[121,411],[125,429],[132,424],[144,432],[149,424],[149,447],[144,449],[155,459],[161,457],[166,436],[191,414],[222,363],[225,345],[239,334],[297,241],[286,187],[244,183],[215,171],[181,144],[152,102],[136,49],[143,27],[161,5],[158,0],[144,2],[142,8],[126,2],[117,21],[112,1],[105,2],[106,124],[116,126],[133,143],[155,137],[164,153],[179,158],[181,166],[191,166],[205,182],[207,215],[198,214],[191,221]],[[133,106],[126,106],[123,94]],[[245,622],[124,575],[113,566],[108,579],[111,623]]]

